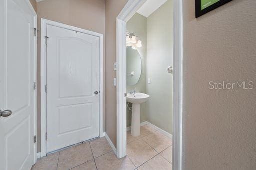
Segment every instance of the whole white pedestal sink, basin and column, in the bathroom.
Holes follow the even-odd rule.
[[[148,100],[149,95],[144,93],[127,94],[127,102],[132,103],[131,135],[140,135],[140,104]]]

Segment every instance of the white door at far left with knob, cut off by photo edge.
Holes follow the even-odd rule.
[[[0,170],[35,162],[35,22],[28,0],[0,0]]]

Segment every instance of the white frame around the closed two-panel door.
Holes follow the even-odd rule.
[[[45,36],[47,31],[47,25],[57,26],[77,32],[93,35],[99,37],[100,41],[100,59],[99,59],[99,137],[103,137],[103,34],[92,32],[89,30],[77,28],[74,26],[54,22],[47,19],[41,19],[41,157],[46,156],[47,144],[46,144],[46,92],[45,85],[47,82],[46,77],[46,43]]]

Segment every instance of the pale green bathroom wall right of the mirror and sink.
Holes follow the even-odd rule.
[[[172,134],[173,1],[168,0],[147,18],[147,121]]]

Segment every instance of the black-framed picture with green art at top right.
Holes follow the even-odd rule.
[[[199,17],[231,0],[195,0],[195,17]]]

